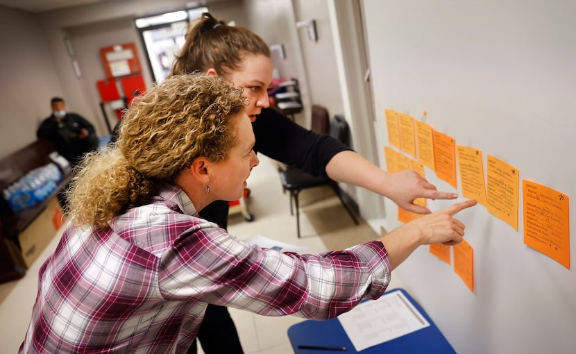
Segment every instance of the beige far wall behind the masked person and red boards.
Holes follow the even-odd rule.
[[[50,112],[52,96],[62,96],[70,111],[92,122],[100,136],[108,134],[99,106],[96,80],[104,78],[99,49],[135,42],[146,85],[151,75],[133,19],[181,10],[186,0],[126,0],[43,12],[39,15],[0,7],[0,157],[33,142],[35,130]],[[243,1],[211,0],[214,15],[246,26]],[[69,37],[82,77],[76,78],[64,44]],[[113,113],[112,113],[113,114]],[[109,115],[110,116],[110,115]],[[110,120],[115,117],[110,116]],[[113,122],[113,121],[112,121]]]

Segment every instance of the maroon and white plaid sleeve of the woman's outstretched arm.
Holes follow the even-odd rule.
[[[249,246],[217,229],[181,240],[162,260],[166,298],[198,298],[269,316],[296,314],[329,319],[363,298],[378,298],[389,279],[381,242],[320,255],[280,253]],[[176,248],[178,249],[178,248]]]

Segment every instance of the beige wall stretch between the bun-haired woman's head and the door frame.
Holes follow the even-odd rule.
[[[298,78],[304,110],[296,121],[310,128],[312,104],[328,108],[330,115],[343,114],[339,76],[328,1],[246,0],[249,28],[268,44],[284,44],[286,58],[276,62],[284,78]],[[308,39],[306,28],[296,22],[316,20],[318,40]]]

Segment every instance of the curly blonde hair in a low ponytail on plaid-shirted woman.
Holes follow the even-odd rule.
[[[72,178],[72,224],[104,228],[194,159],[224,160],[237,143],[230,119],[245,106],[242,88],[220,76],[181,74],[151,87],[126,111],[117,143],[86,155]]]

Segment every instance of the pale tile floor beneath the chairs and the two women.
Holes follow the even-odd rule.
[[[260,155],[260,166],[248,179],[251,194],[248,210],[254,221],[246,222],[242,214],[231,214],[228,230],[240,238],[263,235],[280,242],[306,247],[307,253],[341,249],[374,239],[378,235],[360,220],[356,226],[342,208],[331,189],[309,189],[300,194],[300,227],[302,237],[296,237],[296,219],[290,215],[289,196],[282,194],[280,178],[273,161]],[[37,271],[51,253],[60,237],[40,255],[40,259],[20,280],[0,285],[0,343],[2,353],[17,353],[31,316],[37,289]],[[394,279],[394,278],[393,278]],[[394,279],[393,287],[401,287]],[[303,321],[299,317],[264,317],[230,309],[246,354],[294,353],[287,336],[288,328]],[[199,349],[199,353],[203,351]]]

